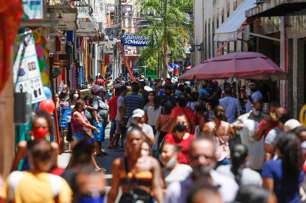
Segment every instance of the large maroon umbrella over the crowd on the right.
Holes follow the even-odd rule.
[[[285,80],[287,74],[267,56],[257,52],[234,52],[214,57],[184,73],[181,80],[207,79]]]

